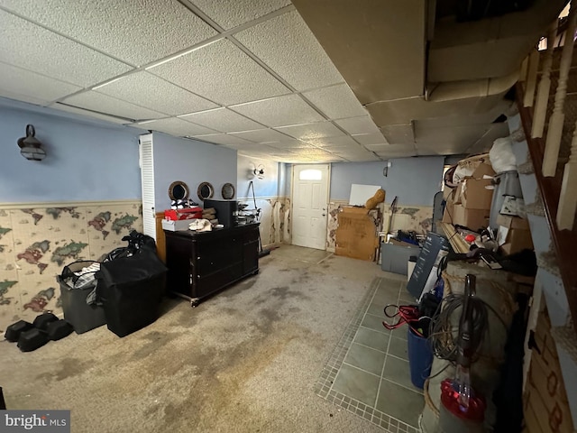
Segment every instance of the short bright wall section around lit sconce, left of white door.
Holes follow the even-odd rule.
[[[276,197],[279,193],[282,172],[279,170],[279,162],[261,160],[249,156],[238,155],[237,170],[238,180],[236,196],[238,198],[252,198],[250,183],[254,185],[255,197]],[[262,166],[264,176],[258,179],[254,176],[255,167]]]

